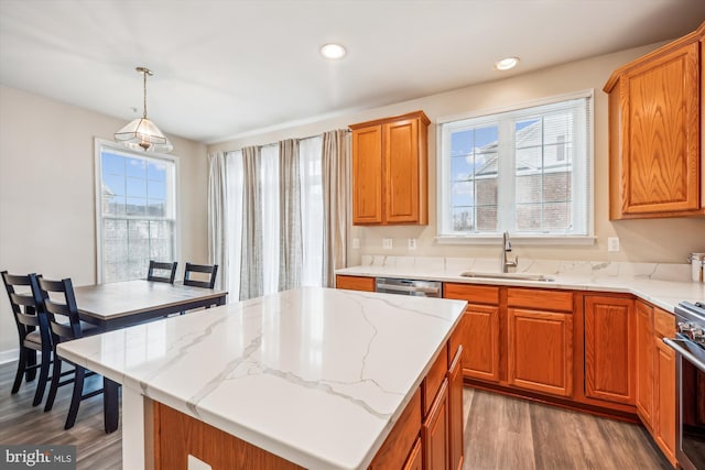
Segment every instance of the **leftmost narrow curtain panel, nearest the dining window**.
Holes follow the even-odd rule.
[[[227,175],[225,156],[208,155],[208,262],[217,264],[216,286],[228,289],[228,214]]]

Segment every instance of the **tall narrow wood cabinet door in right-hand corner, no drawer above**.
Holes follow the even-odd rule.
[[[637,300],[637,413],[647,428],[653,429],[653,308]]]

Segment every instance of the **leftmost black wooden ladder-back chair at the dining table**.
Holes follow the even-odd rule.
[[[44,305],[40,294],[36,274],[14,275],[2,271],[2,282],[8,291],[12,315],[18,327],[20,338],[20,360],[18,371],[12,384],[12,394],[18,393],[22,376],[28,382],[36,378],[36,369],[40,369],[40,378],[36,382],[34,401],[32,406],[42,403],[44,390],[48,382],[48,370],[52,363],[53,348],[48,321],[44,314]],[[18,293],[15,287],[29,287],[30,292]],[[41,352],[41,362],[36,363],[36,353]]]

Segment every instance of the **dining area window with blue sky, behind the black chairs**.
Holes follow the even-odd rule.
[[[96,141],[99,282],[147,277],[176,256],[176,160]]]

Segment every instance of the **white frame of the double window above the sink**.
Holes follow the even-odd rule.
[[[451,124],[456,121],[463,121],[468,119],[487,118],[488,122],[498,122],[497,114],[506,112],[517,112],[529,108],[536,108],[542,106],[557,105],[563,101],[570,101],[575,99],[586,99],[588,106],[587,119],[586,119],[586,144],[587,144],[587,162],[585,166],[585,192],[576,194],[576,199],[581,199],[581,208],[587,208],[587,219],[585,220],[585,234],[560,234],[560,233],[513,233],[511,234],[512,242],[519,244],[542,244],[542,245],[575,245],[575,244],[594,244],[595,237],[595,99],[594,89],[585,89],[581,91],[562,94],[551,96],[542,99],[523,101],[506,107],[498,107],[491,109],[482,109],[478,111],[454,114],[448,117],[438,118],[436,120],[436,156],[437,156],[437,172],[436,172],[436,237],[435,241],[438,244],[496,244],[498,240],[501,240],[502,231],[505,230],[501,225],[498,232],[495,233],[447,233],[445,227],[447,219],[451,215],[451,162],[444,155],[444,142],[446,135],[443,128],[446,124]],[[501,125],[501,122],[500,122]],[[513,142],[512,142],[513,145]],[[512,161],[513,163],[513,161]],[[507,178],[507,175],[498,173],[498,185],[503,185],[502,181]],[[513,181],[513,177],[512,177]],[[500,207],[511,207],[513,214],[516,209],[514,199],[514,184],[505,192],[498,193],[498,209]],[[511,199],[511,204],[507,204],[507,199]],[[577,200],[574,201],[574,207],[577,207]],[[498,222],[499,223],[499,222]]]

